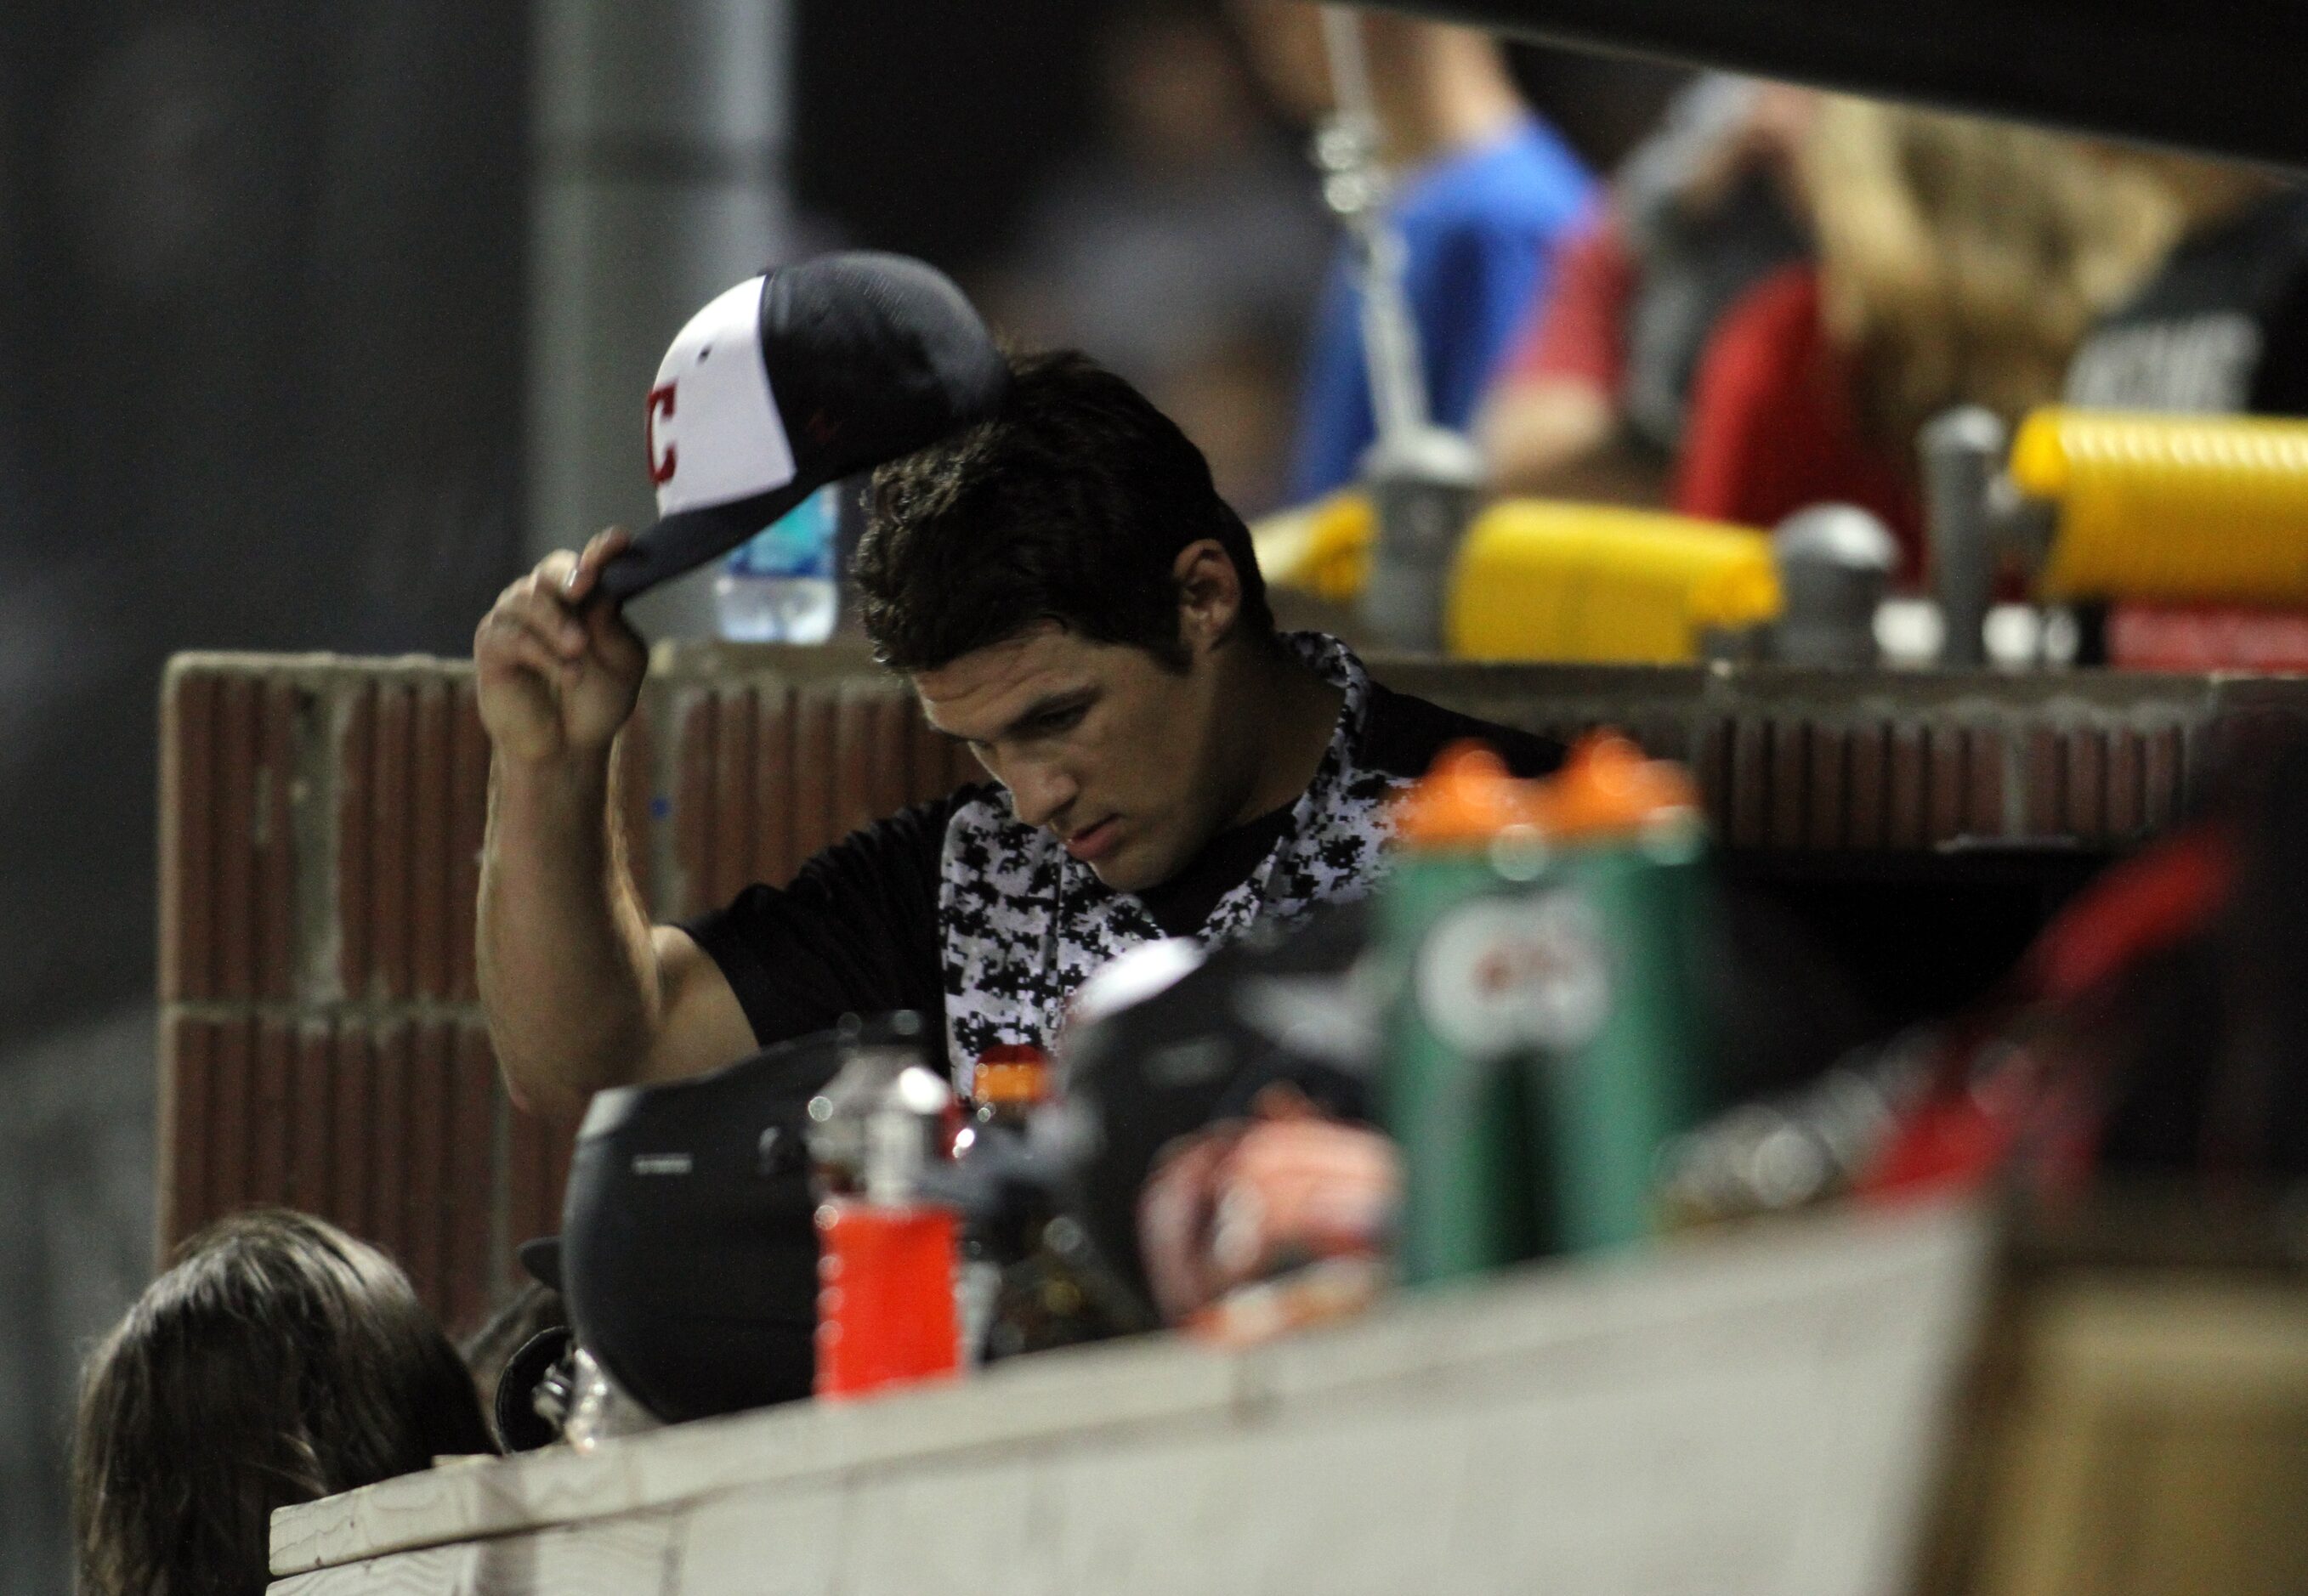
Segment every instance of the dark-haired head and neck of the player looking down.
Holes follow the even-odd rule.
[[[1200,450],[1080,353],[1011,360],[1002,411],[875,473],[875,655],[1018,819],[1119,890],[1304,789],[1339,694],[1274,632]]]

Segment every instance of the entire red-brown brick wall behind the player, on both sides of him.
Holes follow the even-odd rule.
[[[1530,729],[1694,763],[1756,851],[2123,844],[2308,683],[1447,667],[1380,676]],[[168,1245],[252,1202],[390,1248],[466,1328],[559,1222],[570,1126],[512,1109],[473,985],[487,743],[471,669],[185,655],[162,703],[162,1190]],[[653,913],[785,881],[974,766],[842,650],[660,650],[623,747]]]

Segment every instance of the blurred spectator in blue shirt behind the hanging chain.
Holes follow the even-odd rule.
[[[1322,18],[1297,0],[1237,5],[1260,74],[1306,118],[1332,108]],[[1389,203],[1403,238],[1403,288],[1419,334],[1426,404],[1466,429],[1514,328],[1544,300],[1556,249],[1595,182],[1521,99],[1496,39],[1466,28],[1357,14],[1380,159],[1399,173]],[[1378,436],[1362,348],[1362,293],[1346,256],[1316,318],[1290,452],[1290,498],[1355,477]]]

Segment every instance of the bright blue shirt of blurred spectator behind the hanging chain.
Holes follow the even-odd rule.
[[[1403,288],[1438,424],[1468,427],[1516,328],[1551,286],[1556,244],[1593,196],[1586,166],[1537,118],[1401,187],[1392,210],[1403,235]],[[1306,357],[1290,498],[1304,503],[1350,482],[1376,436],[1362,293],[1341,251]]]

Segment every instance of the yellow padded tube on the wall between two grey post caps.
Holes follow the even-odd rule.
[[[1466,660],[1696,660],[1779,613],[1770,537],[1616,505],[1509,498],[1468,528],[1445,643]]]

